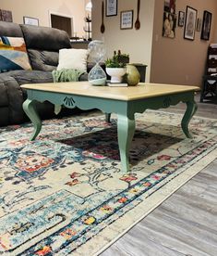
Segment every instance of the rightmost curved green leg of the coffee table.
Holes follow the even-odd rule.
[[[191,118],[193,117],[193,115],[195,114],[195,112],[197,111],[198,109],[198,106],[196,104],[196,102],[193,100],[193,101],[187,101],[186,102],[187,104],[187,110],[186,110],[186,113],[182,119],[182,130],[184,132],[184,134],[186,134],[187,138],[192,138],[191,134],[189,133],[189,130],[188,130],[188,123],[190,122]]]

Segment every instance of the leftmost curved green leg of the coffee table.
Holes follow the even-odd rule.
[[[34,140],[42,129],[42,122],[41,122],[40,117],[36,111],[34,100],[26,99],[23,102],[23,109],[24,109],[25,113],[28,115],[28,117],[30,118],[30,121],[34,125],[33,134],[31,134],[31,136],[30,136],[30,140]]]

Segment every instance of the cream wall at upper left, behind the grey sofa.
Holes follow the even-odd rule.
[[[85,3],[86,0],[1,0],[0,8],[11,10],[13,21],[23,23],[23,16],[39,19],[40,26],[49,27],[49,11],[73,17],[74,32],[78,36],[85,33]]]

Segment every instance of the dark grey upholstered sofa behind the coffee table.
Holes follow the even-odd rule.
[[[26,92],[20,85],[53,83],[52,70],[58,65],[59,49],[71,48],[71,44],[64,31],[5,21],[0,21],[0,36],[23,37],[32,68],[0,73],[0,126],[5,126],[28,120],[22,109]],[[90,68],[91,64],[88,71]],[[81,75],[80,80],[87,80],[87,73]],[[42,118],[54,116],[54,106],[48,102],[39,103],[37,108]],[[66,111],[73,113],[73,109]]]

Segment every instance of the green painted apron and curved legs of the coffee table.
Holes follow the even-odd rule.
[[[34,125],[34,131],[30,139],[33,140],[40,133],[42,122],[35,108],[35,101],[50,101],[56,106],[65,106],[73,109],[100,109],[105,113],[105,120],[110,122],[111,113],[117,114],[117,134],[118,146],[121,158],[121,169],[123,172],[129,171],[129,149],[135,133],[134,114],[142,113],[146,109],[165,109],[175,106],[179,102],[187,104],[186,113],[182,119],[181,126],[184,134],[191,138],[188,130],[188,123],[197,110],[194,101],[194,91],[176,93],[166,96],[152,96],[150,98],[136,100],[117,100],[94,96],[78,96],[73,94],[45,92],[40,90],[27,89],[28,99],[23,104],[23,109],[30,117]],[[57,108],[56,108],[57,109]]]

